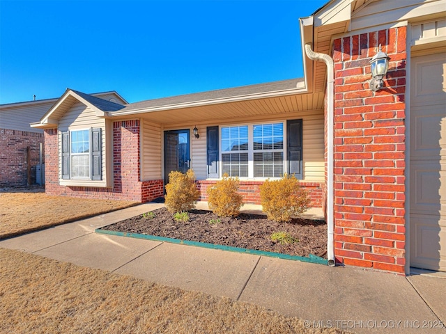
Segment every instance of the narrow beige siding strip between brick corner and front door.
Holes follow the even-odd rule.
[[[160,125],[141,120],[141,180],[162,179],[162,149]]]

